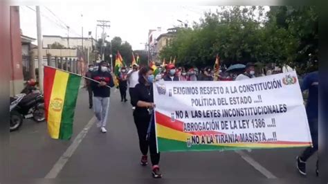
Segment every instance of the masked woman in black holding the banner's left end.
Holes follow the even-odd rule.
[[[152,176],[154,178],[161,178],[162,174],[159,170],[160,154],[156,149],[156,134],[154,126],[154,98],[153,86],[154,81],[152,68],[146,66],[141,68],[138,75],[138,84],[136,84],[134,97],[132,103],[136,107],[134,110],[134,123],[138,131],[139,147],[141,151],[140,164],[146,166],[148,148],[150,152],[150,159],[152,161]],[[152,121],[151,121],[152,120]]]

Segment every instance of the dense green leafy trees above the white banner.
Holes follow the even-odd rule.
[[[289,64],[305,73],[318,65],[316,12],[313,6],[272,6],[267,13],[262,6],[225,6],[179,30],[160,56],[176,56],[183,66],[213,66],[219,54],[221,65]]]

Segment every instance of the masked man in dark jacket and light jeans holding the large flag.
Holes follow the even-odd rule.
[[[100,127],[102,133],[106,133],[107,116],[109,111],[109,97],[111,90],[109,87],[114,86],[113,77],[108,72],[107,62],[102,61],[98,71],[92,73],[91,78],[98,82],[91,82],[93,91],[93,105],[95,117],[98,120],[97,127]]]

